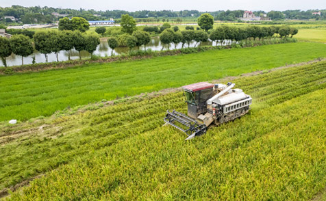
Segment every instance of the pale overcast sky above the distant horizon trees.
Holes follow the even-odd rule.
[[[326,9],[325,0],[0,0],[1,7],[11,5],[84,8],[94,10],[310,10]]]

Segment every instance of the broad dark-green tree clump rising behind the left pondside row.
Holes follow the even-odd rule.
[[[90,29],[90,24],[82,17],[73,17],[71,20],[69,18],[61,18],[59,21],[59,30],[79,30],[85,32]]]

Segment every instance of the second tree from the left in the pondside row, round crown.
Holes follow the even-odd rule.
[[[24,64],[24,57],[32,55],[34,51],[31,39],[22,34],[10,38],[10,47],[14,54],[21,56],[21,65]]]

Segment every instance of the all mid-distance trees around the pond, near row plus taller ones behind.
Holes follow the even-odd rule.
[[[168,44],[168,48],[171,43],[177,44],[182,43],[182,48],[184,44],[190,46],[191,42],[196,42],[197,46],[200,42],[206,42],[209,39],[218,42],[225,42],[229,40],[232,42],[239,42],[242,40],[259,40],[263,38],[271,38],[273,36],[278,36],[280,38],[294,36],[298,33],[298,29],[282,26],[282,27],[228,27],[221,26],[213,29],[214,18],[212,15],[205,13],[201,14],[198,18],[198,25],[200,29],[194,30],[193,27],[188,27],[184,31],[179,31],[179,27],[171,27],[170,24],[164,23],[160,29],[156,27],[153,30],[160,31],[160,40],[162,44]],[[59,22],[59,30],[51,31],[39,31],[33,35],[33,40],[30,37],[24,36],[23,34],[14,35],[10,40],[7,38],[0,39],[0,57],[3,60],[4,66],[6,65],[5,57],[8,57],[11,53],[16,55],[21,55],[22,65],[23,57],[27,57],[34,52],[34,49],[45,55],[46,62],[48,62],[48,55],[50,53],[55,53],[57,61],[59,62],[58,53],[60,51],[68,51],[68,59],[70,59],[71,49],[75,49],[79,52],[79,59],[81,59],[80,52],[88,51],[92,57],[92,53],[97,49],[100,43],[98,35],[86,35],[82,34],[82,31],[89,29],[89,25],[84,18],[62,18]],[[103,34],[105,32],[104,27],[97,27],[95,30],[98,34]],[[136,46],[145,46],[150,42],[151,36],[148,31],[152,31],[149,27],[144,27],[144,29],[137,30],[136,21],[132,16],[128,14],[121,16],[121,31],[122,35],[112,37],[108,39],[108,45],[113,51],[117,46],[128,46],[129,51]],[[164,46],[162,46],[162,50]]]

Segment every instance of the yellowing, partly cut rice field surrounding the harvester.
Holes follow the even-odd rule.
[[[313,198],[326,185],[326,62],[233,82],[250,113],[190,142],[162,126],[166,109],[186,111],[181,92],[2,125],[0,187],[46,173],[8,200]]]

